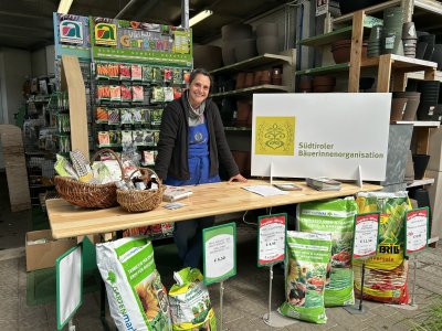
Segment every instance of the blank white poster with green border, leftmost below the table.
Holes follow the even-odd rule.
[[[55,260],[57,330],[63,329],[83,305],[82,250],[80,243]]]

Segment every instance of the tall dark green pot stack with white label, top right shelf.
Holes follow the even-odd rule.
[[[383,11],[382,54],[403,55],[402,25],[402,7]]]

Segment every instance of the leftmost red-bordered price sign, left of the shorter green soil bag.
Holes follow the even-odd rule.
[[[257,266],[283,261],[287,214],[261,216],[257,226]]]

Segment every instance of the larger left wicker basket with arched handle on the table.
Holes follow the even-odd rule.
[[[123,175],[124,169],[122,161],[110,149],[102,149],[97,151],[92,157],[91,163],[93,163],[98,156],[105,152],[110,153],[118,161]],[[114,182],[107,184],[91,184],[60,175],[56,175],[54,181],[59,194],[74,205],[87,209],[107,209],[118,204],[116,193],[117,186]]]

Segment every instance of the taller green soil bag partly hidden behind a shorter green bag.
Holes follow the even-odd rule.
[[[301,232],[332,234],[332,260],[327,266],[325,307],[355,303],[351,248],[357,209],[354,197],[297,205],[296,220]]]

